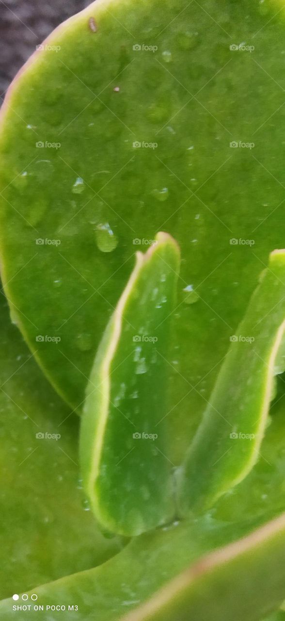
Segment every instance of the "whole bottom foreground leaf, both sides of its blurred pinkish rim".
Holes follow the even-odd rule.
[[[284,515],[252,528],[202,518],[141,535],[100,567],[35,589],[37,605],[65,606],[62,621],[70,621],[72,605],[76,621],[93,620],[94,611],[96,621],[260,621],[284,597]],[[14,619],[15,603],[0,602],[5,621]],[[30,611],[18,614],[30,621]],[[41,614],[58,618],[52,609]]]

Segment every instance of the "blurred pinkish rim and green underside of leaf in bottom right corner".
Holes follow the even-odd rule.
[[[283,514],[245,539],[202,558],[124,621],[260,619],[284,596],[284,540]]]

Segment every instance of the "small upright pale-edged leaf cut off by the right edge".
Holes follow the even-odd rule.
[[[258,460],[274,376],[282,373],[285,250],[275,250],[222,365],[204,418],[179,473],[179,503],[207,509]]]

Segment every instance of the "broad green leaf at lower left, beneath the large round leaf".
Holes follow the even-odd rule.
[[[122,542],[94,524],[79,480],[78,417],[38,369],[2,295],[0,317],[2,598],[104,563]]]

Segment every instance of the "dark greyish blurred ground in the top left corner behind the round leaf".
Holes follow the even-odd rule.
[[[91,0],[0,0],[0,104],[35,46],[88,4]]]

